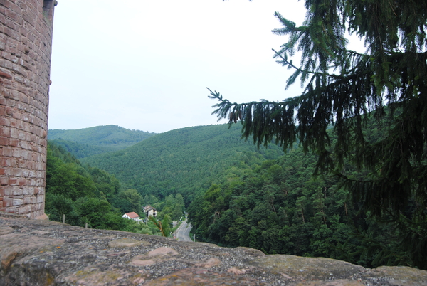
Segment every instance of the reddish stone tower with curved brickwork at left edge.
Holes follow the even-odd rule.
[[[53,9],[0,0],[0,211],[43,218]]]

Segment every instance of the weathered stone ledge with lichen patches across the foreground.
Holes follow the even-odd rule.
[[[427,271],[366,269],[0,213],[0,285],[427,285]]]

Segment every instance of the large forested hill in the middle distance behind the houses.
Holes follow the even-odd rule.
[[[258,150],[241,140],[241,126],[209,125],[176,129],[150,137],[132,147],[81,159],[105,169],[140,194],[168,196],[180,193],[188,203],[206,191],[226,170],[248,169],[283,154],[270,145]]]

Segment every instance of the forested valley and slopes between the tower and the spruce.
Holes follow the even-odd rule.
[[[367,136],[381,136],[377,128],[367,129]],[[297,145],[286,152],[274,144],[258,149],[240,132],[239,125],[187,127],[80,159],[75,154],[102,144],[75,140],[75,152],[70,142],[51,140],[46,213],[56,221],[67,213],[68,223],[80,226],[161,235],[173,233],[172,221],[188,211],[190,235],[199,241],[369,268],[423,268],[423,258],[401,243],[399,221],[362,215],[339,178],[313,177],[316,154],[304,154]],[[351,166],[346,174],[367,176]],[[121,218],[130,211],[141,215],[144,206],[157,209],[156,222]],[[168,231],[161,232],[158,222]]]

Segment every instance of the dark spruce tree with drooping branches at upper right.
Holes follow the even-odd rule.
[[[288,37],[273,50],[278,63],[295,71],[286,86],[300,78],[302,94],[232,103],[209,90],[219,101],[214,113],[230,124],[240,120],[242,136],[258,146],[275,141],[289,149],[300,142],[318,155],[314,173],[339,176],[364,211],[400,216],[412,204],[411,219],[424,221],[427,2],[306,0],[305,8],[302,26],[275,12],[283,27],[273,30]],[[364,53],[349,48],[349,34],[364,41]],[[296,52],[300,63],[292,61]],[[367,124],[379,127],[379,139],[369,137]],[[369,176],[347,176],[347,164]]]

